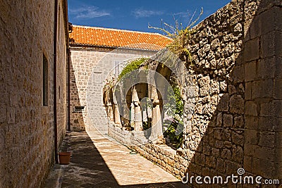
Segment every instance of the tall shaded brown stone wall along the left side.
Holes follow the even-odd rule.
[[[66,118],[66,35],[60,2],[59,141]],[[54,163],[54,1],[1,1],[0,187],[40,187]],[[48,102],[43,106],[43,54]],[[58,93],[59,94],[59,93]]]

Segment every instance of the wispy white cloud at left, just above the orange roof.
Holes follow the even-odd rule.
[[[111,15],[109,11],[99,10],[97,6],[82,6],[78,9],[71,9],[69,13],[75,15],[75,18],[99,18]]]

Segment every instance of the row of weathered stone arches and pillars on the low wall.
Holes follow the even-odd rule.
[[[165,143],[164,104],[168,103],[168,90],[172,91],[168,80],[173,70],[180,78],[180,85],[184,85],[185,66],[167,49],[151,58],[154,57],[157,59],[147,60],[138,70],[106,85],[103,89],[103,101],[110,123],[114,126],[134,130],[137,134],[142,132],[143,138],[149,138],[149,142]],[[143,128],[143,122],[149,125],[148,130]]]

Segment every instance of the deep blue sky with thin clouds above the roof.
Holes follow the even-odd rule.
[[[68,17],[73,25],[108,27],[123,30],[158,32],[149,25],[163,27],[161,20],[174,25],[173,15],[178,23],[187,25],[192,14],[204,13],[200,20],[214,13],[231,0],[68,0]]]

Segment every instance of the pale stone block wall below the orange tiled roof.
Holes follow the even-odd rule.
[[[119,63],[121,72],[127,60],[153,54],[155,51],[71,46],[72,130],[94,126],[106,133],[108,119],[102,101],[103,81],[115,73],[115,62]],[[84,106],[84,109],[75,112],[75,106]]]

